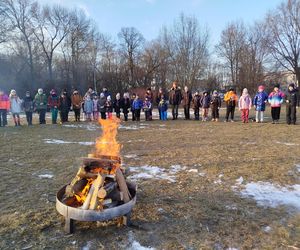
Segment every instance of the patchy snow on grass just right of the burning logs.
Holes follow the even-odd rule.
[[[169,182],[176,182],[176,173],[185,169],[186,167],[182,167],[180,165],[172,165],[169,169],[149,165],[141,167],[129,167],[129,171],[132,174],[129,175],[128,178],[134,181],[140,179],[162,179],[168,180]]]

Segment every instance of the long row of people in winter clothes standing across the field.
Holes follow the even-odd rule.
[[[211,109],[212,121],[219,120],[219,109],[222,105],[222,100],[217,91],[213,91],[212,95],[208,91],[204,91],[202,95],[199,92],[192,94],[187,87],[184,88],[183,93],[177,86],[177,82],[173,83],[169,90],[169,98],[166,98],[166,93],[162,89],[156,98],[156,104],[159,111],[159,119],[167,120],[168,105],[172,106],[173,120],[178,117],[178,107],[183,104],[185,119],[190,119],[190,108],[194,109],[195,120],[200,119],[200,109],[202,108],[202,121],[208,120],[209,109]],[[238,106],[241,111],[242,121],[247,123],[249,121],[249,111],[254,105],[256,110],[256,122],[264,121],[264,111],[266,104],[271,106],[271,115],[273,123],[278,123],[280,118],[281,104],[286,100],[287,107],[287,123],[296,123],[296,106],[299,106],[299,96],[294,84],[288,86],[288,93],[285,96],[280,91],[279,86],[274,86],[274,90],[268,95],[264,86],[259,86],[255,97],[252,99],[248,94],[247,89],[243,90],[240,98],[236,95],[233,89],[230,89],[224,96],[226,103],[225,121],[234,120],[235,108]],[[147,89],[142,100],[138,95],[124,93],[121,98],[120,93],[117,93],[114,100],[112,100],[110,93],[106,88],[98,96],[92,88],[89,88],[86,94],[82,97],[78,90],[74,90],[69,97],[66,90],[63,90],[61,95],[52,89],[47,98],[43,89],[39,89],[34,98],[30,93],[26,92],[26,97],[21,100],[15,90],[11,90],[9,97],[0,91],[0,126],[7,124],[6,113],[11,111],[13,120],[16,126],[20,125],[20,113],[24,110],[26,119],[29,125],[32,125],[32,113],[37,111],[39,113],[40,124],[46,123],[45,114],[47,108],[51,111],[52,123],[57,123],[58,112],[60,113],[61,122],[68,122],[68,114],[72,109],[75,113],[75,121],[80,121],[81,110],[83,110],[84,120],[91,121],[98,120],[99,113],[102,119],[110,118],[115,112],[116,116],[120,118],[121,112],[124,114],[124,120],[128,120],[129,110],[132,112],[132,120],[139,121],[141,111],[145,112],[145,120],[152,120],[153,109],[153,93],[150,88]]]

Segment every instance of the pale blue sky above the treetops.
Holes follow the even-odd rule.
[[[226,24],[243,20],[251,24],[263,18],[282,0],[38,0],[78,7],[94,19],[100,32],[117,37],[122,27],[136,27],[147,40],[157,37],[163,25],[171,25],[180,13],[195,16],[207,25],[211,44],[218,42]]]

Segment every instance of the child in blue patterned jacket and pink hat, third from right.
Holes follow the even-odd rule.
[[[253,99],[253,105],[255,108],[255,121],[264,121],[264,112],[266,110],[266,103],[268,102],[268,94],[265,92],[263,85],[258,86],[258,91]]]

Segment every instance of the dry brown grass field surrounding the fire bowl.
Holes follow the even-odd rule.
[[[99,125],[86,122],[0,128],[0,249],[300,248],[299,210],[261,206],[232,188],[240,177],[300,184],[300,125],[286,125],[284,114],[276,125],[269,117],[264,124],[122,122],[118,140],[129,175],[130,167],[145,165],[181,170],[173,181],[137,179],[131,226],[76,222],[66,235],[56,192],[100,134]]]

